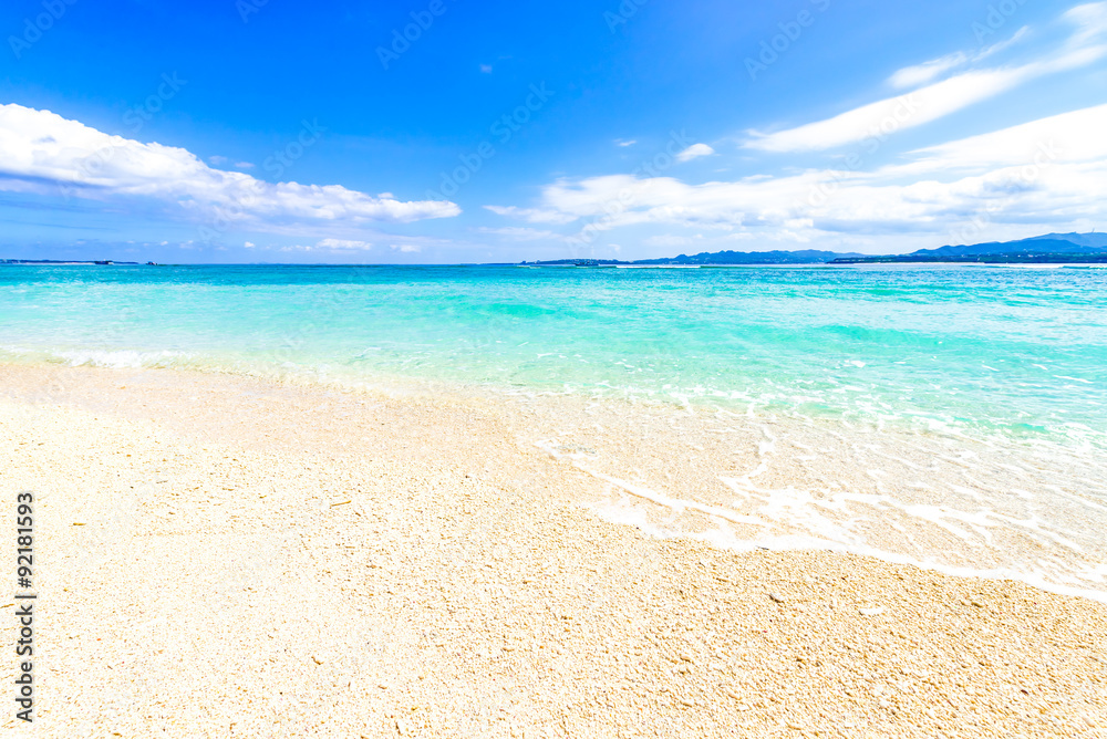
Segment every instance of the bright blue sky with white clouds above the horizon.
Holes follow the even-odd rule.
[[[1107,228],[1107,2],[8,0],[0,39],[0,258],[898,253]]]

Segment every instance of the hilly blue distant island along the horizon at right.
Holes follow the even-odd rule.
[[[971,246],[921,249],[908,254],[867,256],[852,252],[819,251],[716,251],[680,254],[663,259],[557,259],[523,262],[536,267],[617,267],[625,266],[701,266],[727,264],[886,264],[903,262],[948,262],[982,264],[1098,264],[1107,263],[1107,233],[1047,233],[1018,241],[992,241]]]

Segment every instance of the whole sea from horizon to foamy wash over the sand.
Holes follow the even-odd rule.
[[[0,361],[497,398],[656,535],[1107,600],[1105,309],[1100,269],[12,264]]]

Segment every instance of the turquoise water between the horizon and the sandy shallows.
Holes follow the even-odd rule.
[[[1099,444],[1107,270],[0,267],[0,357],[445,379]]]

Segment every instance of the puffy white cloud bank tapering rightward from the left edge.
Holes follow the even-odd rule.
[[[81,198],[146,198],[199,223],[273,231],[456,216],[448,201],[374,198],[340,185],[267,183],[213,169],[172,146],[110,136],[49,111],[0,105],[0,190]]]

